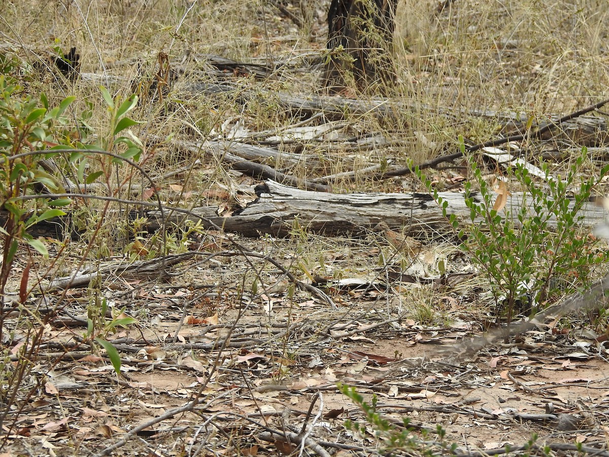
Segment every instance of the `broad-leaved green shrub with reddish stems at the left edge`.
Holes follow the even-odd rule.
[[[8,324],[10,311],[16,311],[19,317],[15,322],[23,342],[15,354],[11,353],[10,343],[3,345],[0,351],[2,430],[7,430],[4,427],[6,419],[8,414],[15,410],[21,389],[32,394],[35,389],[40,388],[38,384],[43,381],[37,379],[35,386],[27,386],[29,380],[34,378],[28,375],[48,324],[45,319],[49,319],[41,319],[36,309],[27,306],[30,293],[29,261],[19,260],[19,263],[27,266],[21,275],[18,300],[13,300],[10,305],[5,298],[7,283],[12,277],[20,246],[34,249],[48,257],[44,242],[33,238],[28,233],[29,228],[41,221],[65,215],[65,211],[60,208],[71,204],[71,200],[65,197],[66,191],[62,184],[54,175],[45,171],[42,161],[55,160],[56,163],[63,163],[76,171],[74,174],[80,183],[91,183],[102,176],[108,180],[113,167],[125,162],[139,169],[132,161],[137,160],[142,151],[138,141],[119,136],[123,130],[137,124],[126,116],[135,106],[137,98],[128,97],[121,104],[117,104],[104,88],[102,96],[110,113],[110,132],[107,135],[99,135],[102,138],[99,145],[79,144],[80,149],[74,149],[71,144],[62,143],[69,143],[69,135],[66,135],[68,119],[64,113],[75,98],[67,97],[57,107],[51,108],[44,94],[41,94],[40,99],[25,96],[21,93],[21,88],[0,74],[0,206],[5,213],[4,225],[0,227],[0,341],[10,342],[15,339],[16,332],[7,335],[9,325],[5,324]],[[124,146],[119,151],[117,145]],[[85,175],[91,157],[101,157],[102,160],[97,160],[101,166],[100,169]],[[121,311],[114,313],[111,319],[105,319],[105,300],[102,303],[96,302],[95,305],[96,310],[88,319],[85,342],[103,347],[118,373],[121,364],[119,354],[105,338],[116,331],[117,327],[133,324],[135,319],[124,316]],[[21,316],[27,318],[23,319]],[[16,356],[16,363],[12,363],[11,355]]]

